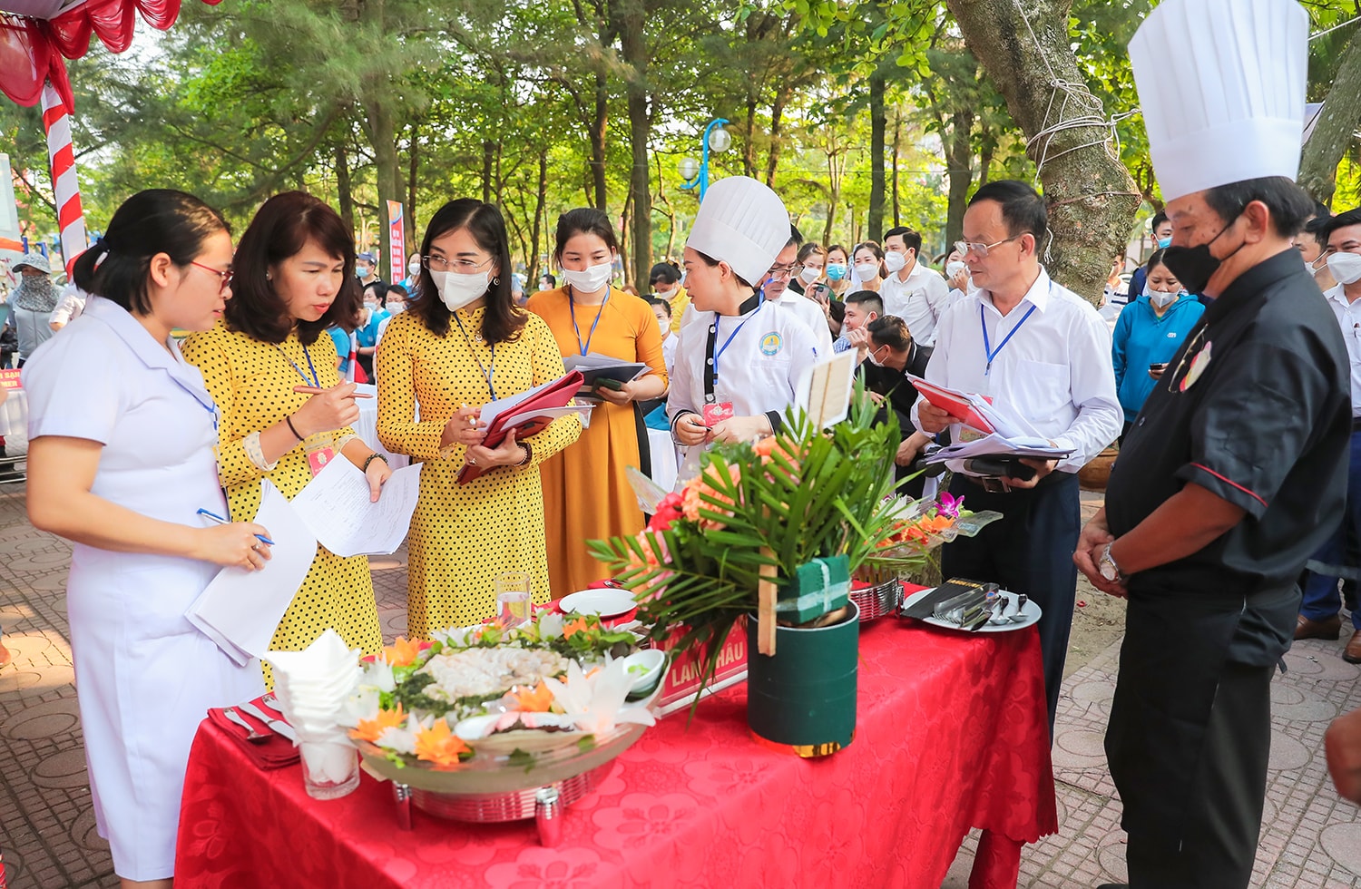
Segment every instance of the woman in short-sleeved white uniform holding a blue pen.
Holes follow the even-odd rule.
[[[23,369],[29,519],[75,542],[71,651],[99,835],[128,886],[170,886],[189,745],[210,707],[263,692],[184,610],[219,566],[268,547],[218,486],[216,407],[170,339],[222,316],[226,222],[191,195],[129,197],[75,267],[84,314]]]

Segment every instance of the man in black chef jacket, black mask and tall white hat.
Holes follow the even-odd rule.
[[[1172,35],[1190,45],[1169,61]],[[1074,555],[1128,598],[1105,746],[1135,888],[1248,885],[1270,682],[1346,491],[1347,353],[1290,245],[1312,212],[1293,182],[1307,38],[1293,0],[1168,0],[1130,44],[1173,223],[1164,261],[1214,297]]]

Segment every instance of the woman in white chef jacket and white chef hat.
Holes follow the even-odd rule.
[[[667,399],[671,436],[690,445],[682,476],[698,471],[702,445],[778,430],[799,374],[818,358],[808,325],[751,287],[788,240],[784,203],[753,178],[720,180],[700,204],[685,248],[695,319],[680,332]]]

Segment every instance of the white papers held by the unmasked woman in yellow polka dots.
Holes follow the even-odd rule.
[[[336,555],[387,555],[401,546],[421,496],[422,463],[392,474],[378,502],[369,502],[369,479],[350,460],[327,463],[293,498],[293,508]]]

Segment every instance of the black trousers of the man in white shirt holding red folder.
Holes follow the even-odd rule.
[[[1078,589],[1078,568],[1072,564],[1082,532],[1078,476],[1053,472],[1038,487],[992,494],[955,475],[950,493],[964,496],[965,506],[973,512],[996,509],[1002,513],[1002,519],[979,536],[946,543],[940,572],[946,580],[966,577],[1000,584],[1003,589],[1026,594],[1040,606],[1040,652],[1052,735]]]

